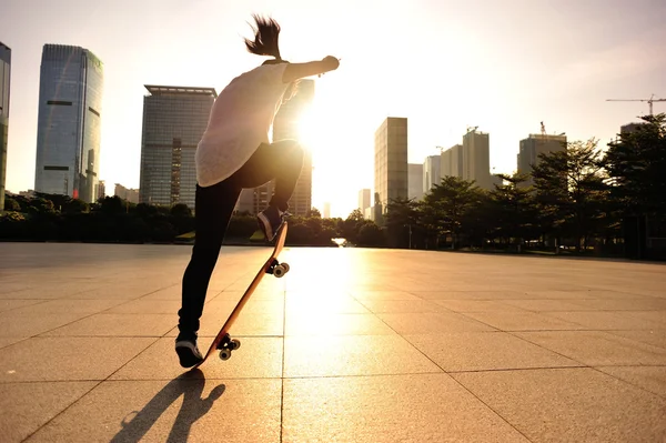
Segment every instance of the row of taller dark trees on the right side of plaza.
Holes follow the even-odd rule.
[[[569,142],[541,154],[529,175],[500,174],[492,191],[446,177],[422,201],[393,200],[390,245],[626,255],[629,241],[636,256],[664,256],[666,114],[642,120],[605,151],[595,139]]]

